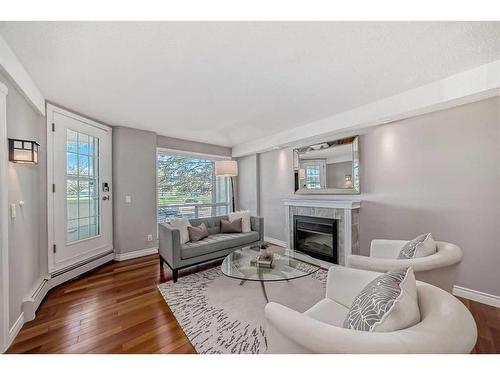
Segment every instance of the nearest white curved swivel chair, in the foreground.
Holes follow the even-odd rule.
[[[305,313],[266,305],[269,353],[470,353],[477,328],[469,310],[451,294],[417,281],[421,321],[394,332],[342,328],[358,293],[377,272],[335,266],[326,298]]]

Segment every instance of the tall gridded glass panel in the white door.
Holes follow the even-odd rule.
[[[66,243],[100,234],[99,139],[67,130]]]

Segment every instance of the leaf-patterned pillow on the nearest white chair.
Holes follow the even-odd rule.
[[[417,283],[410,267],[389,271],[371,281],[356,296],[344,328],[391,332],[420,321]]]

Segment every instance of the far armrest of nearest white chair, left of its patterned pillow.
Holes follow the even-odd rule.
[[[380,273],[332,266],[328,269],[326,297],[349,308],[359,292],[377,276]]]

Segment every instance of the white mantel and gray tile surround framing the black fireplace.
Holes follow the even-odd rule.
[[[361,201],[287,199],[284,202],[287,245],[293,249],[293,216],[325,217],[337,221],[338,262],[345,265],[348,255],[359,254],[359,209]]]

